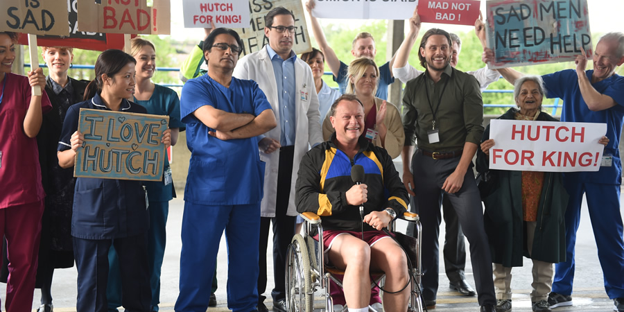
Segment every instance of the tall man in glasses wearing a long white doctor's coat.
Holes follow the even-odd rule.
[[[273,311],[286,311],[284,283],[286,250],[294,235],[295,182],[303,155],[322,142],[318,96],[308,64],[292,50],[295,17],[285,8],[274,8],[265,17],[269,44],[245,55],[234,68],[234,77],[258,83],[271,103],[277,127],[259,143],[260,159],[266,162],[264,197],[261,202],[260,276],[258,311],[267,311],[266,290],[268,228],[273,227]],[[293,83],[294,78],[294,83]],[[293,122],[295,123],[293,125]]]

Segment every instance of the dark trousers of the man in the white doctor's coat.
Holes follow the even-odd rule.
[[[279,169],[277,171],[277,200],[275,202],[275,217],[260,218],[260,275],[258,276],[259,302],[264,302],[266,296],[266,249],[268,247],[269,225],[273,227],[273,280],[275,288],[271,291],[273,301],[286,298],[286,251],[293,236],[295,236],[296,216],[286,216],[288,199],[291,195],[291,177],[293,174],[294,146],[284,146],[279,149]],[[265,190],[265,194],[269,190]]]

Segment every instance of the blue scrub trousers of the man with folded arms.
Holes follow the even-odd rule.
[[[184,202],[180,295],[175,311],[205,312],[221,235],[227,241],[227,307],[254,311],[258,304],[260,202],[209,206]]]

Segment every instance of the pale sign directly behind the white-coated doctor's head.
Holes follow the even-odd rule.
[[[297,54],[312,51],[304,8],[300,0],[249,0],[250,26],[234,29],[243,40],[241,57],[259,51],[268,44],[268,38],[264,35],[264,17],[266,13],[277,6],[283,6],[295,15],[293,51]]]

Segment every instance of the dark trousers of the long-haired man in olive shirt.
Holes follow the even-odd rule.
[[[471,263],[480,305],[496,304],[492,281],[492,257],[483,227],[483,209],[474,173],[468,168],[462,188],[457,193],[442,190],[444,181],[455,171],[460,157],[435,160],[416,150],[412,157],[416,209],[422,223],[423,297],[435,300],[440,268],[438,236],[440,235],[440,202],[447,196],[455,208],[463,232],[470,244]]]

